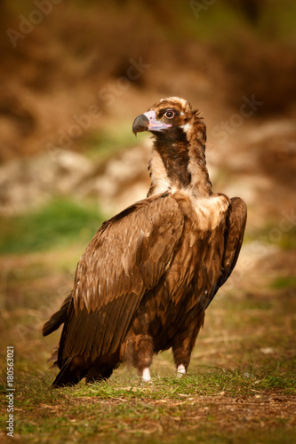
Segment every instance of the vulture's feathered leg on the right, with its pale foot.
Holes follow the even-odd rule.
[[[172,354],[179,376],[185,376],[187,373],[190,356],[196,344],[196,337],[203,325],[204,313],[199,316],[196,323],[189,324],[188,329],[183,330],[179,336],[173,339]]]

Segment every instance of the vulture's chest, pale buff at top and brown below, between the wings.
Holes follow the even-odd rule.
[[[223,194],[199,200],[184,194],[176,197],[185,223],[165,287],[169,299],[189,308],[219,279],[229,201]]]

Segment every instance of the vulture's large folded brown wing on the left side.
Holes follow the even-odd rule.
[[[59,367],[77,355],[94,361],[116,351],[141,298],[170,266],[183,225],[178,203],[164,194],[101,226],[76,268]]]

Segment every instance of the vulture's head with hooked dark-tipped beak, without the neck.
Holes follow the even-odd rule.
[[[156,139],[183,139],[197,136],[205,142],[205,125],[198,111],[185,99],[160,99],[132,123],[132,132],[150,131]]]

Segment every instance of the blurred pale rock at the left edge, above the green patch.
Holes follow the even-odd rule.
[[[34,210],[55,195],[72,194],[93,168],[83,155],[60,151],[54,158],[36,155],[0,167],[0,212],[5,216]]]

